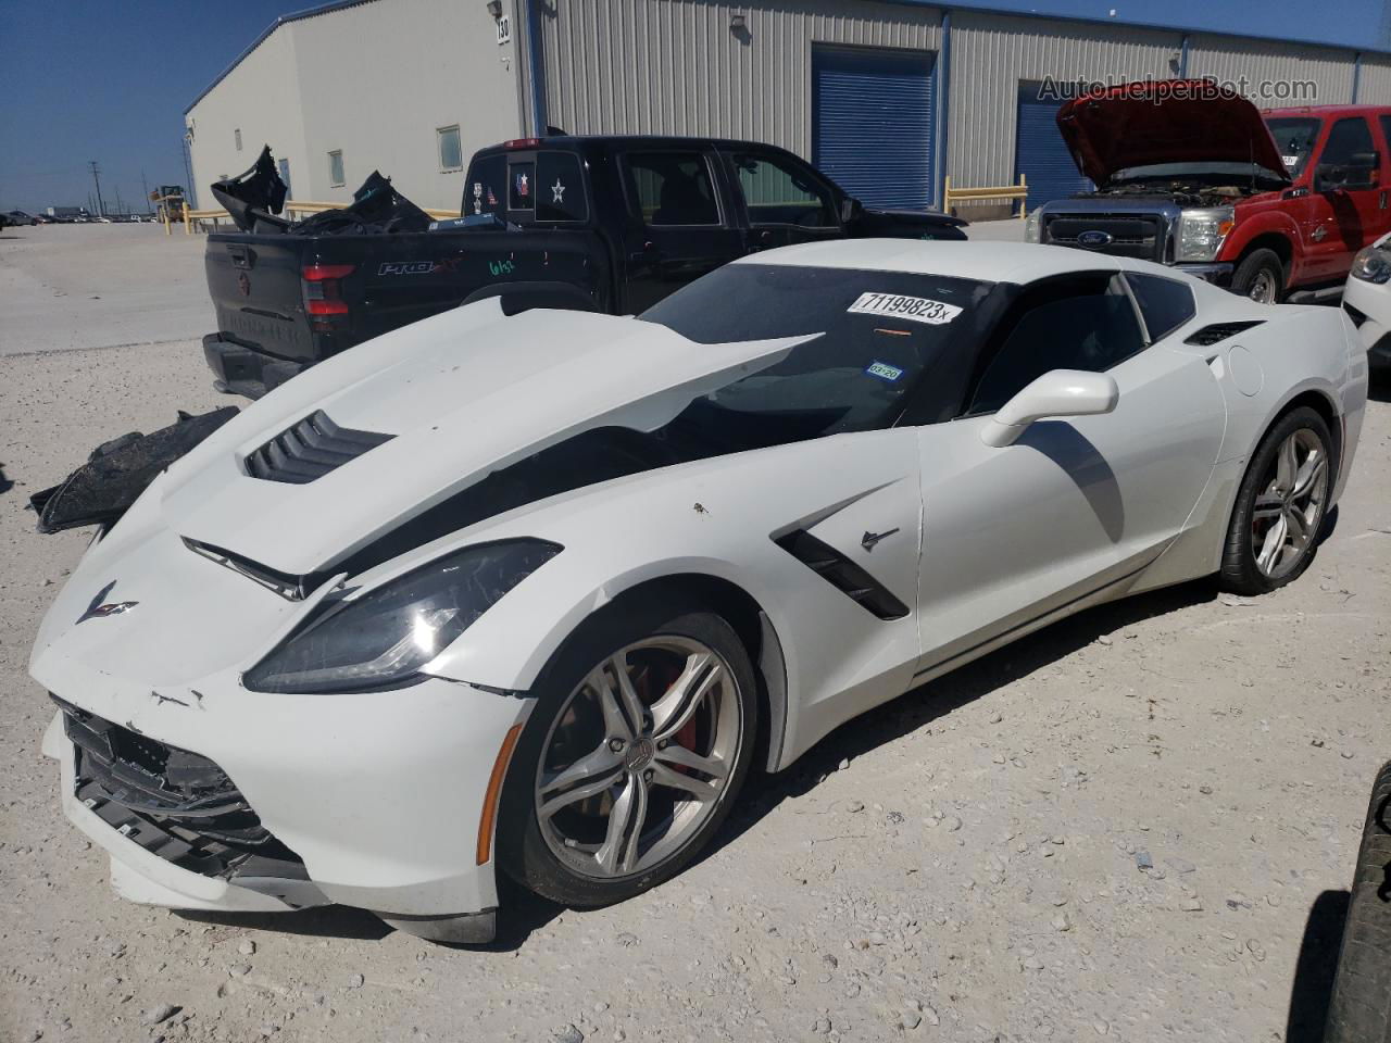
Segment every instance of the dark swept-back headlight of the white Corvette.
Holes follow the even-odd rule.
[[[458,551],[352,601],[324,605],[242,674],[252,691],[399,687],[561,548],[516,540]]]

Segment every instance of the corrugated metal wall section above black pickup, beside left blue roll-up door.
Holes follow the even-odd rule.
[[[750,138],[810,157],[811,45],[936,50],[940,24],[931,7],[844,0],[554,0],[541,15],[548,118],[572,134]]]

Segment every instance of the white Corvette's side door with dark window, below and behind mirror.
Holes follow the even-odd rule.
[[[956,420],[921,428],[918,679],[1124,583],[1182,530],[1221,446],[1221,391],[1170,332],[1192,291],[1152,278],[1155,334],[1117,274],[1035,284],[1002,320]],[[1035,421],[1006,448],[982,432],[1054,369],[1109,373],[1111,413]]]

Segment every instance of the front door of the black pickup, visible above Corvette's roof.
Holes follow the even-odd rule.
[[[744,207],[748,252],[844,235],[835,191],[796,156],[746,147],[725,159]]]

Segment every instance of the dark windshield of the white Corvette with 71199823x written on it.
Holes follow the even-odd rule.
[[[698,343],[814,334],[778,364],[696,399],[675,424],[773,445],[890,427],[988,289],[942,275],[727,264],[640,318]]]

